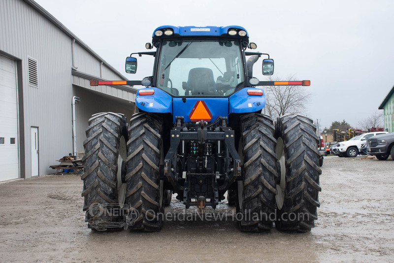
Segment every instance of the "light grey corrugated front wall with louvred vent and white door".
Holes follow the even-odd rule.
[[[70,38],[23,1],[1,0],[0,16],[0,49],[22,60],[26,177],[31,126],[39,127],[39,174],[47,174],[55,159],[72,151]],[[28,56],[38,63],[38,88],[28,83]]]

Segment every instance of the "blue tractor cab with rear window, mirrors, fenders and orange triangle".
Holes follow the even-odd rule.
[[[197,119],[190,116],[203,102],[205,111],[202,115],[205,117],[199,120],[209,122],[219,116],[228,117],[230,113],[239,112],[239,109],[242,112],[245,108],[247,112],[263,109],[263,90],[254,90],[259,80],[253,78],[251,69],[261,55],[269,55],[245,52],[247,48],[257,48],[257,45],[249,43],[244,28],[163,26],[154,31],[152,42],[153,45],[147,43],[146,48],[156,47],[156,52],[136,53],[155,56],[153,76],[145,78],[143,85],[150,91],[150,96],[161,94],[166,103],[164,106],[154,102],[153,97],[146,97],[145,89],[140,89],[136,105],[141,111],[172,113],[173,122],[176,121],[175,116],[182,115],[188,122]],[[136,72],[136,58],[132,55],[126,59],[128,73]],[[245,55],[254,58],[246,60]],[[263,74],[273,74],[272,59],[263,60]],[[237,94],[246,87],[250,89],[248,92],[244,90]],[[249,96],[251,94],[255,96]],[[247,99],[240,103],[244,97]]]

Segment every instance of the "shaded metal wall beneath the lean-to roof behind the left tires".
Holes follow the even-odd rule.
[[[73,91],[74,95],[80,99],[80,102],[75,106],[78,151],[84,151],[83,141],[86,139],[85,130],[88,127],[88,120],[93,114],[100,112],[123,113],[126,115],[128,121],[130,121],[134,103],[110,96],[102,96],[95,91],[75,85],[73,86]]]

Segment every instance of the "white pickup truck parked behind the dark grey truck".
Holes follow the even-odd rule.
[[[388,132],[367,132],[361,135],[355,136],[352,139],[344,142],[340,142],[333,149],[334,154],[341,157],[356,157],[360,154],[360,148],[362,143],[376,135],[386,134]]]

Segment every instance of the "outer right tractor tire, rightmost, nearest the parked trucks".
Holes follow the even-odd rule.
[[[317,220],[320,153],[313,121],[299,115],[278,118],[277,136],[283,140],[286,163],[283,205],[278,204],[275,226],[280,230],[310,231]],[[279,138],[278,138],[279,140]]]

